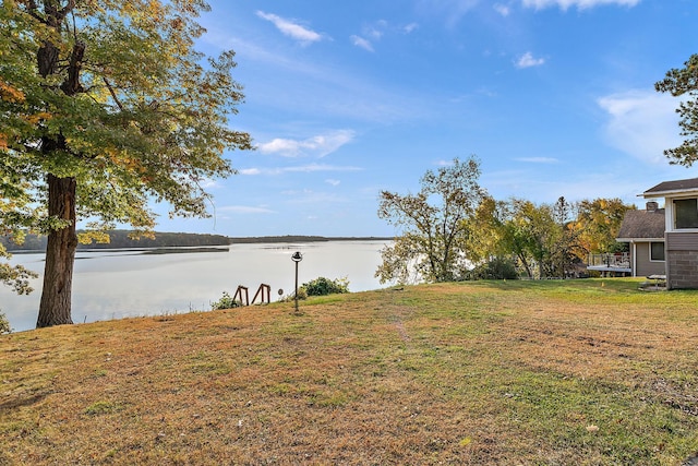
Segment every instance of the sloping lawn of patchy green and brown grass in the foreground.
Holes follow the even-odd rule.
[[[678,465],[698,292],[466,283],[0,337],[0,464]]]

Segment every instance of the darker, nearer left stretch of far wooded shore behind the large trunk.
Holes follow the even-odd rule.
[[[183,232],[156,232],[155,238],[129,238],[127,230],[109,231],[108,243],[79,244],[77,249],[137,249],[137,248],[173,248],[173,247],[203,247],[228,246],[230,238],[222,235],[198,235]],[[23,244],[15,244],[9,237],[0,237],[0,242],[8,251],[44,251],[46,250],[46,236],[27,235]]]

